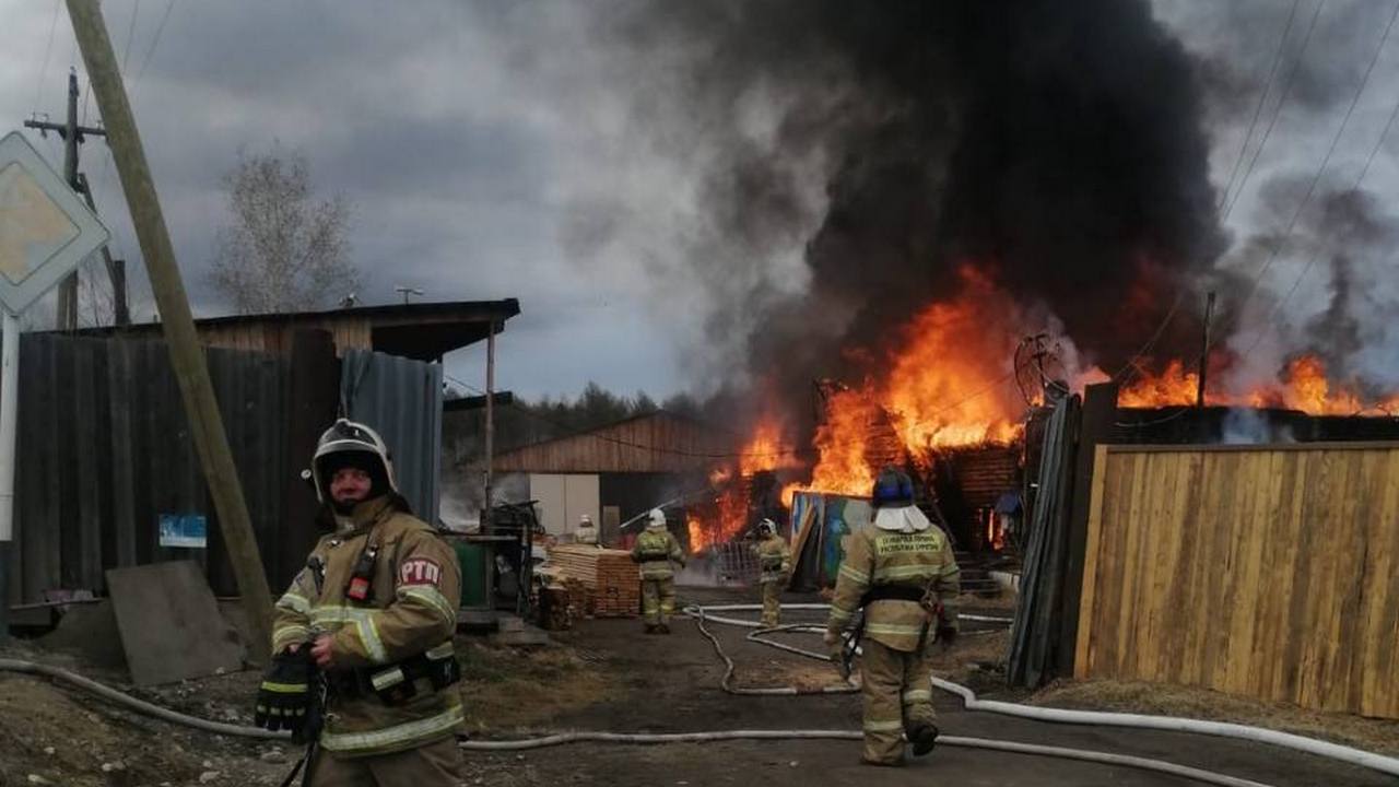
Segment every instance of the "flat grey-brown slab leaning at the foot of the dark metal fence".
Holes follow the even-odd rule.
[[[242,669],[245,647],[193,562],[112,569],[106,587],[136,685]]]

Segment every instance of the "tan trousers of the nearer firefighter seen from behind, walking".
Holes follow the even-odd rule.
[[[902,734],[909,738],[935,724],[933,665],[923,653],[905,653],[866,637],[860,647],[865,695],[865,762],[894,765],[904,759]]]

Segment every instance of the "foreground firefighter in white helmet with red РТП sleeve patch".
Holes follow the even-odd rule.
[[[457,784],[456,556],[413,517],[368,426],[337,420],[311,475],[336,529],[277,601],[257,724],[311,738],[313,786]],[[318,735],[304,728],[318,710],[315,671],[327,693]]]

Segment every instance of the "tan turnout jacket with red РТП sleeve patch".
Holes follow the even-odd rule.
[[[463,720],[459,686],[439,685],[436,676],[456,658],[462,574],[455,553],[431,527],[399,511],[392,496],[337,520],[340,529],[316,543],[277,601],[273,625],[273,653],[320,633],[334,637],[320,746],[340,756],[379,755],[452,735]],[[350,590],[357,564],[372,566],[362,602]]]

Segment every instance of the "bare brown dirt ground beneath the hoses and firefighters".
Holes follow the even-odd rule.
[[[701,602],[733,602],[743,594],[683,590]],[[988,608],[988,613],[996,613]],[[818,620],[789,613],[785,622]],[[467,679],[462,685],[473,738],[509,738],[532,731],[600,730],[681,732],[711,730],[858,730],[858,696],[733,697],[719,690],[722,662],[693,622],[680,620],[670,637],[641,636],[637,620],[581,620],[558,644],[532,651],[459,641]],[[743,640],[744,632],[712,630],[737,664],[740,685],[834,683],[825,665]],[[970,632],[968,632],[970,633]],[[816,637],[792,636],[792,644],[818,648]],[[997,693],[997,660],[1004,636],[968,636],[940,657],[940,669],[985,697]],[[122,688],[120,671],[32,647],[0,655],[35,658],[76,668]],[[220,721],[250,723],[259,676],[241,672],[199,682],[134,692],[143,699]],[[129,689],[129,686],[126,686]],[[1104,686],[1056,686],[1034,697],[1048,704],[1137,707],[1160,704],[1179,711],[1182,700],[1139,686],[1109,692]],[[1192,702],[1205,702],[1195,699]],[[940,725],[947,735],[1000,738],[1035,744],[1135,753],[1193,765],[1274,787],[1392,786],[1392,777],[1293,753],[1283,749],[1182,734],[1066,727],[1002,716],[967,713],[956,697],[939,695]],[[1256,709],[1207,703],[1212,717],[1234,717]],[[1209,713],[1192,713],[1210,716]],[[1281,725],[1297,723],[1281,710],[1263,714]],[[1247,718],[1245,718],[1247,720]],[[1259,721],[1255,718],[1254,721]],[[1399,731],[1392,723],[1350,717],[1314,720],[1332,738],[1361,742],[1364,735]],[[1358,724],[1358,727],[1354,727]],[[1353,738],[1357,735],[1361,738]],[[137,787],[186,784],[276,784],[299,753],[290,745],[221,738],[120,711],[102,700],[46,681],[0,674],[0,787],[11,784],[74,784]],[[1391,741],[1399,739],[1399,735]],[[557,786],[700,786],[792,784],[835,786],[877,777],[881,784],[956,783],[958,786],[1185,786],[1191,781],[1122,767],[1077,763],[978,749],[942,746],[933,756],[904,767],[872,772],[858,765],[855,741],[762,741],[709,745],[603,746],[572,745],[520,755],[467,755],[467,784]],[[41,779],[35,781],[32,777]]]

